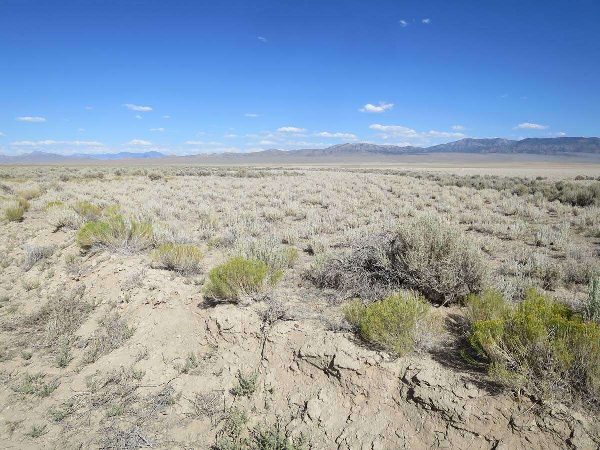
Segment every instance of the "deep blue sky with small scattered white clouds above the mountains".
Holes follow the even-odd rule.
[[[600,2],[0,1],[0,153],[599,136]]]

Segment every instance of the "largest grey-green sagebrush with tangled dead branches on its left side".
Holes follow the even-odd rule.
[[[317,286],[363,297],[405,287],[448,304],[480,292],[488,274],[477,241],[446,218],[424,215],[394,233],[371,236],[350,254],[318,260],[307,275]]]

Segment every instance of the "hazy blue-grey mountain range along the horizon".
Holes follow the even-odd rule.
[[[413,147],[395,145],[375,145],[370,143],[345,143],[334,145],[325,149],[302,149],[302,150],[265,150],[255,153],[223,153],[223,154],[199,154],[185,157],[165,155],[160,152],[131,153],[121,152],[116,154],[74,154],[70,156],[58,155],[34,151],[32,153],[7,156],[0,155],[0,164],[44,164],[44,163],[85,163],[93,161],[115,161],[115,160],[147,160],[165,158],[166,161],[176,163],[178,160],[207,160],[211,161],[264,161],[287,158],[318,158],[328,157],[369,157],[376,155],[427,155],[427,154],[533,154],[533,155],[565,155],[565,154],[598,154],[600,155],[600,138],[598,137],[554,137],[548,139],[461,139],[432,147]]]

